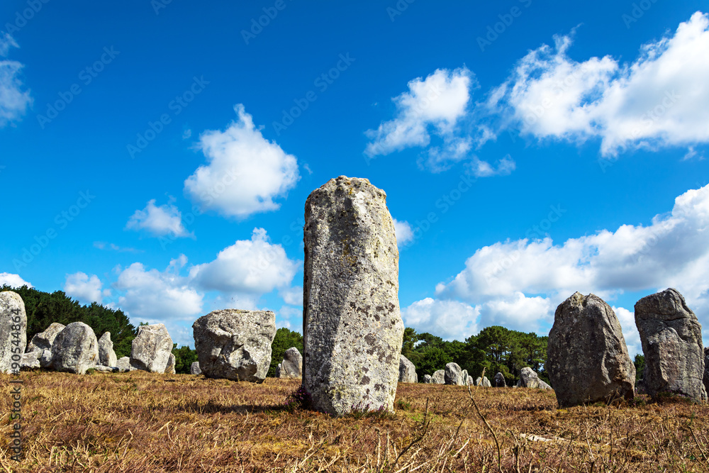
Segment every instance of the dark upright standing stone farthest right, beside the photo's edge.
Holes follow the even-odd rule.
[[[703,384],[702,326],[687,307],[682,294],[666,289],[635,303],[635,325],[640,332],[647,394],[687,396],[706,401]]]

